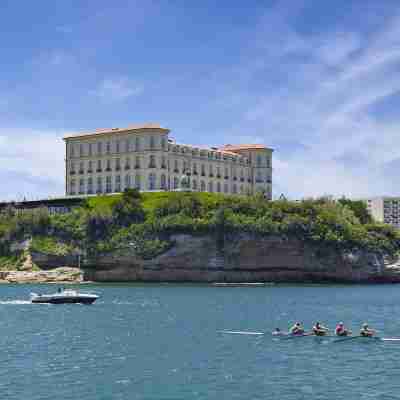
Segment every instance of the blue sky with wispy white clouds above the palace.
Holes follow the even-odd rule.
[[[400,195],[398,0],[2,0],[0,200],[64,194],[63,135],[146,122],[274,149],[273,194]]]

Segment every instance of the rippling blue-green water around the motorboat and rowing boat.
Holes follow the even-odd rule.
[[[92,306],[0,286],[1,399],[400,399],[400,344],[276,340],[315,319],[400,336],[400,286],[84,286]]]

